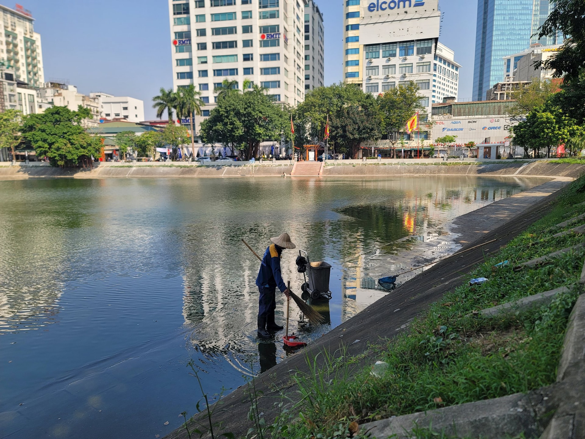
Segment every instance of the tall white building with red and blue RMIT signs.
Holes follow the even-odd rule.
[[[250,80],[269,88],[277,102],[302,102],[306,1],[169,0],[174,89],[195,84],[209,104],[204,117],[223,80],[237,81],[240,89]]]

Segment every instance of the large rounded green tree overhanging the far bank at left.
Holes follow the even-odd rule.
[[[98,156],[101,142],[85,132],[82,121],[91,119],[91,110],[71,111],[67,107],[47,108],[41,114],[23,118],[22,136],[37,156],[47,156],[53,166],[90,164],[91,156]]]

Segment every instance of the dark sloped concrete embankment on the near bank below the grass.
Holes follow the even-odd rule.
[[[560,171],[562,170],[558,168],[557,172]],[[565,169],[563,172],[566,171]],[[462,284],[466,273],[473,270],[478,263],[484,262],[485,255],[498,251],[528,225],[549,212],[551,201],[569,180],[548,181],[457,218],[455,225],[459,226],[458,241],[464,245],[463,249],[470,249],[464,257],[453,255],[443,259],[316,340],[302,354],[292,355],[269,372],[261,374],[255,382],[256,392],[263,395],[257,402],[258,411],[262,411],[270,423],[277,414],[278,407],[274,403],[281,400],[281,393],[292,401],[297,401],[299,394],[292,375],[295,371],[308,372],[307,358],[315,358],[316,368],[323,367],[325,355],[318,355],[319,352],[327,352],[330,358],[365,354],[360,365],[356,365],[356,370],[374,362],[376,358],[367,354],[369,344],[375,345],[380,338],[391,339],[407,330],[409,322],[429,304],[440,300],[447,291]],[[221,423],[223,431],[230,431],[236,437],[245,435],[250,427],[247,419],[250,396],[246,386],[226,396],[222,404],[214,413],[214,423]],[[198,420],[204,423],[203,419]],[[166,438],[184,439],[187,436],[187,432],[179,428]]]

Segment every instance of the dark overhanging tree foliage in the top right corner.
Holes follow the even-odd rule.
[[[585,2],[583,0],[554,0],[552,12],[539,29],[539,39],[545,36],[566,36],[565,43],[555,56],[536,67],[555,70],[555,77],[565,82],[577,80],[585,68]],[[570,36],[570,37],[569,37]]]

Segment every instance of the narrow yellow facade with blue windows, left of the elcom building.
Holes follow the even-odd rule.
[[[345,8],[343,9],[343,80],[346,83],[362,84],[361,58],[360,0],[345,0]]]

